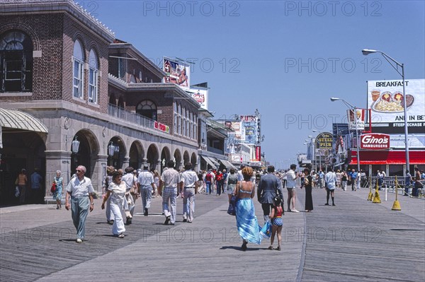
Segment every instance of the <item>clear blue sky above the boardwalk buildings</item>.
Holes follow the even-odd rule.
[[[79,1],[157,64],[191,59],[209,110],[262,115],[262,151],[281,168],[331,130],[344,98],[366,107],[366,81],[401,79],[378,49],[425,78],[424,1]],[[425,95],[425,94],[424,94]]]

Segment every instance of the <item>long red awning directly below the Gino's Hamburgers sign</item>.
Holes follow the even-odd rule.
[[[411,165],[425,165],[425,151],[409,151]],[[360,151],[361,165],[405,165],[404,151]],[[357,165],[357,152],[351,151],[350,165]]]

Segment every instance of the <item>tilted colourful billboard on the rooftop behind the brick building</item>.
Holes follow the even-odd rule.
[[[178,59],[163,57],[163,70],[166,73],[165,83],[176,83],[188,89],[191,85],[191,65]]]

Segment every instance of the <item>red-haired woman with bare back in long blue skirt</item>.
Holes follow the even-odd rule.
[[[245,251],[248,242],[260,244],[262,237],[252,202],[252,198],[255,196],[255,184],[250,181],[253,175],[252,168],[243,168],[242,175],[244,180],[237,182],[234,194],[238,198],[236,202],[237,231],[244,240],[242,250]]]

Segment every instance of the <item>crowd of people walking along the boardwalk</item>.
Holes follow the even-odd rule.
[[[319,170],[310,171],[305,168],[297,172],[296,165],[290,165],[289,170],[275,171],[273,165],[267,170],[253,170],[249,166],[241,165],[239,170],[230,168],[195,172],[191,163],[185,163],[184,168],[178,171],[174,168],[174,161],[166,163],[162,175],[159,172],[149,170],[148,165],[143,165],[143,170],[135,170],[131,167],[125,170],[116,170],[112,166],[107,168],[107,175],[103,180],[103,196],[101,208],[105,209],[106,221],[112,225],[112,233],[115,237],[125,237],[125,225],[132,224],[132,216],[135,211],[137,199],[141,199],[144,216],[149,216],[152,197],[162,196],[162,213],[164,225],[174,225],[176,222],[176,199],[183,198],[183,222],[192,223],[195,214],[195,195],[221,194],[228,195],[231,202],[232,196],[237,196],[235,204],[236,223],[239,235],[242,237],[242,250],[247,249],[249,242],[260,244],[263,239],[261,226],[255,216],[254,196],[263,210],[264,225],[271,225],[271,244],[268,249],[280,250],[281,230],[283,226],[282,216],[285,214],[283,189],[286,188],[288,198],[286,201],[288,212],[298,213],[295,208],[297,203],[296,187],[305,189],[305,212],[313,211],[312,189],[326,189],[325,206],[336,206],[335,189],[343,189],[351,186],[352,191],[360,189],[364,172],[356,170],[336,172],[328,169],[327,172]],[[86,168],[79,165],[75,175],[66,187],[65,208],[72,211],[72,220],[77,230],[77,242],[84,240],[84,225],[86,216],[94,208],[94,188],[91,180],[84,176]],[[377,172],[376,180],[380,184],[382,172]],[[55,182],[60,186],[57,189],[56,199],[62,194],[61,172],[57,171]],[[412,177],[407,171],[406,181],[421,183],[425,175],[415,170]],[[384,176],[385,177],[385,176]],[[23,177],[21,177],[23,178]],[[366,177],[365,177],[366,178]],[[366,178],[367,179],[367,178]],[[415,186],[413,186],[415,187]],[[416,187],[419,187],[416,185]],[[413,192],[415,193],[415,192]],[[329,203],[331,200],[331,203]],[[57,208],[60,208],[57,201]],[[126,217],[124,223],[123,216]],[[278,246],[273,247],[277,237]]]

